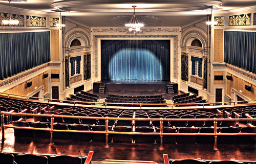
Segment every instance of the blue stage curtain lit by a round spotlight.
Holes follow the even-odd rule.
[[[169,80],[169,40],[101,40],[102,80]]]

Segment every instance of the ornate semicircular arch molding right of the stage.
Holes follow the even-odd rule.
[[[186,46],[187,40],[191,37],[198,38],[202,42],[203,48],[208,47],[206,35],[204,35],[204,33],[202,33],[201,31],[198,31],[198,30],[191,30],[191,31],[188,31],[187,33],[185,33],[181,38],[181,45]]]

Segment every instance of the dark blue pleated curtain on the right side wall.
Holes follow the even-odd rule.
[[[256,74],[256,32],[225,31],[224,62]]]

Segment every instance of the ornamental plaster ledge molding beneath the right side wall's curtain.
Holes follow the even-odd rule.
[[[247,78],[250,78],[252,80],[255,80],[256,81],[256,75],[253,74],[253,73],[250,73],[248,71],[245,71],[244,69],[242,68],[239,68],[239,67],[236,67],[236,66],[233,66],[231,64],[223,64],[223,65],[212,65],[214,68],[228,68],[230,69],[231,71],[234,71],[238,74],[241,74],[243,76],[246,76]]]

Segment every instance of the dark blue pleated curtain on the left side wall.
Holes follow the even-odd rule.
[[[50,32],[0,34],[0,80],[49,62]]]

